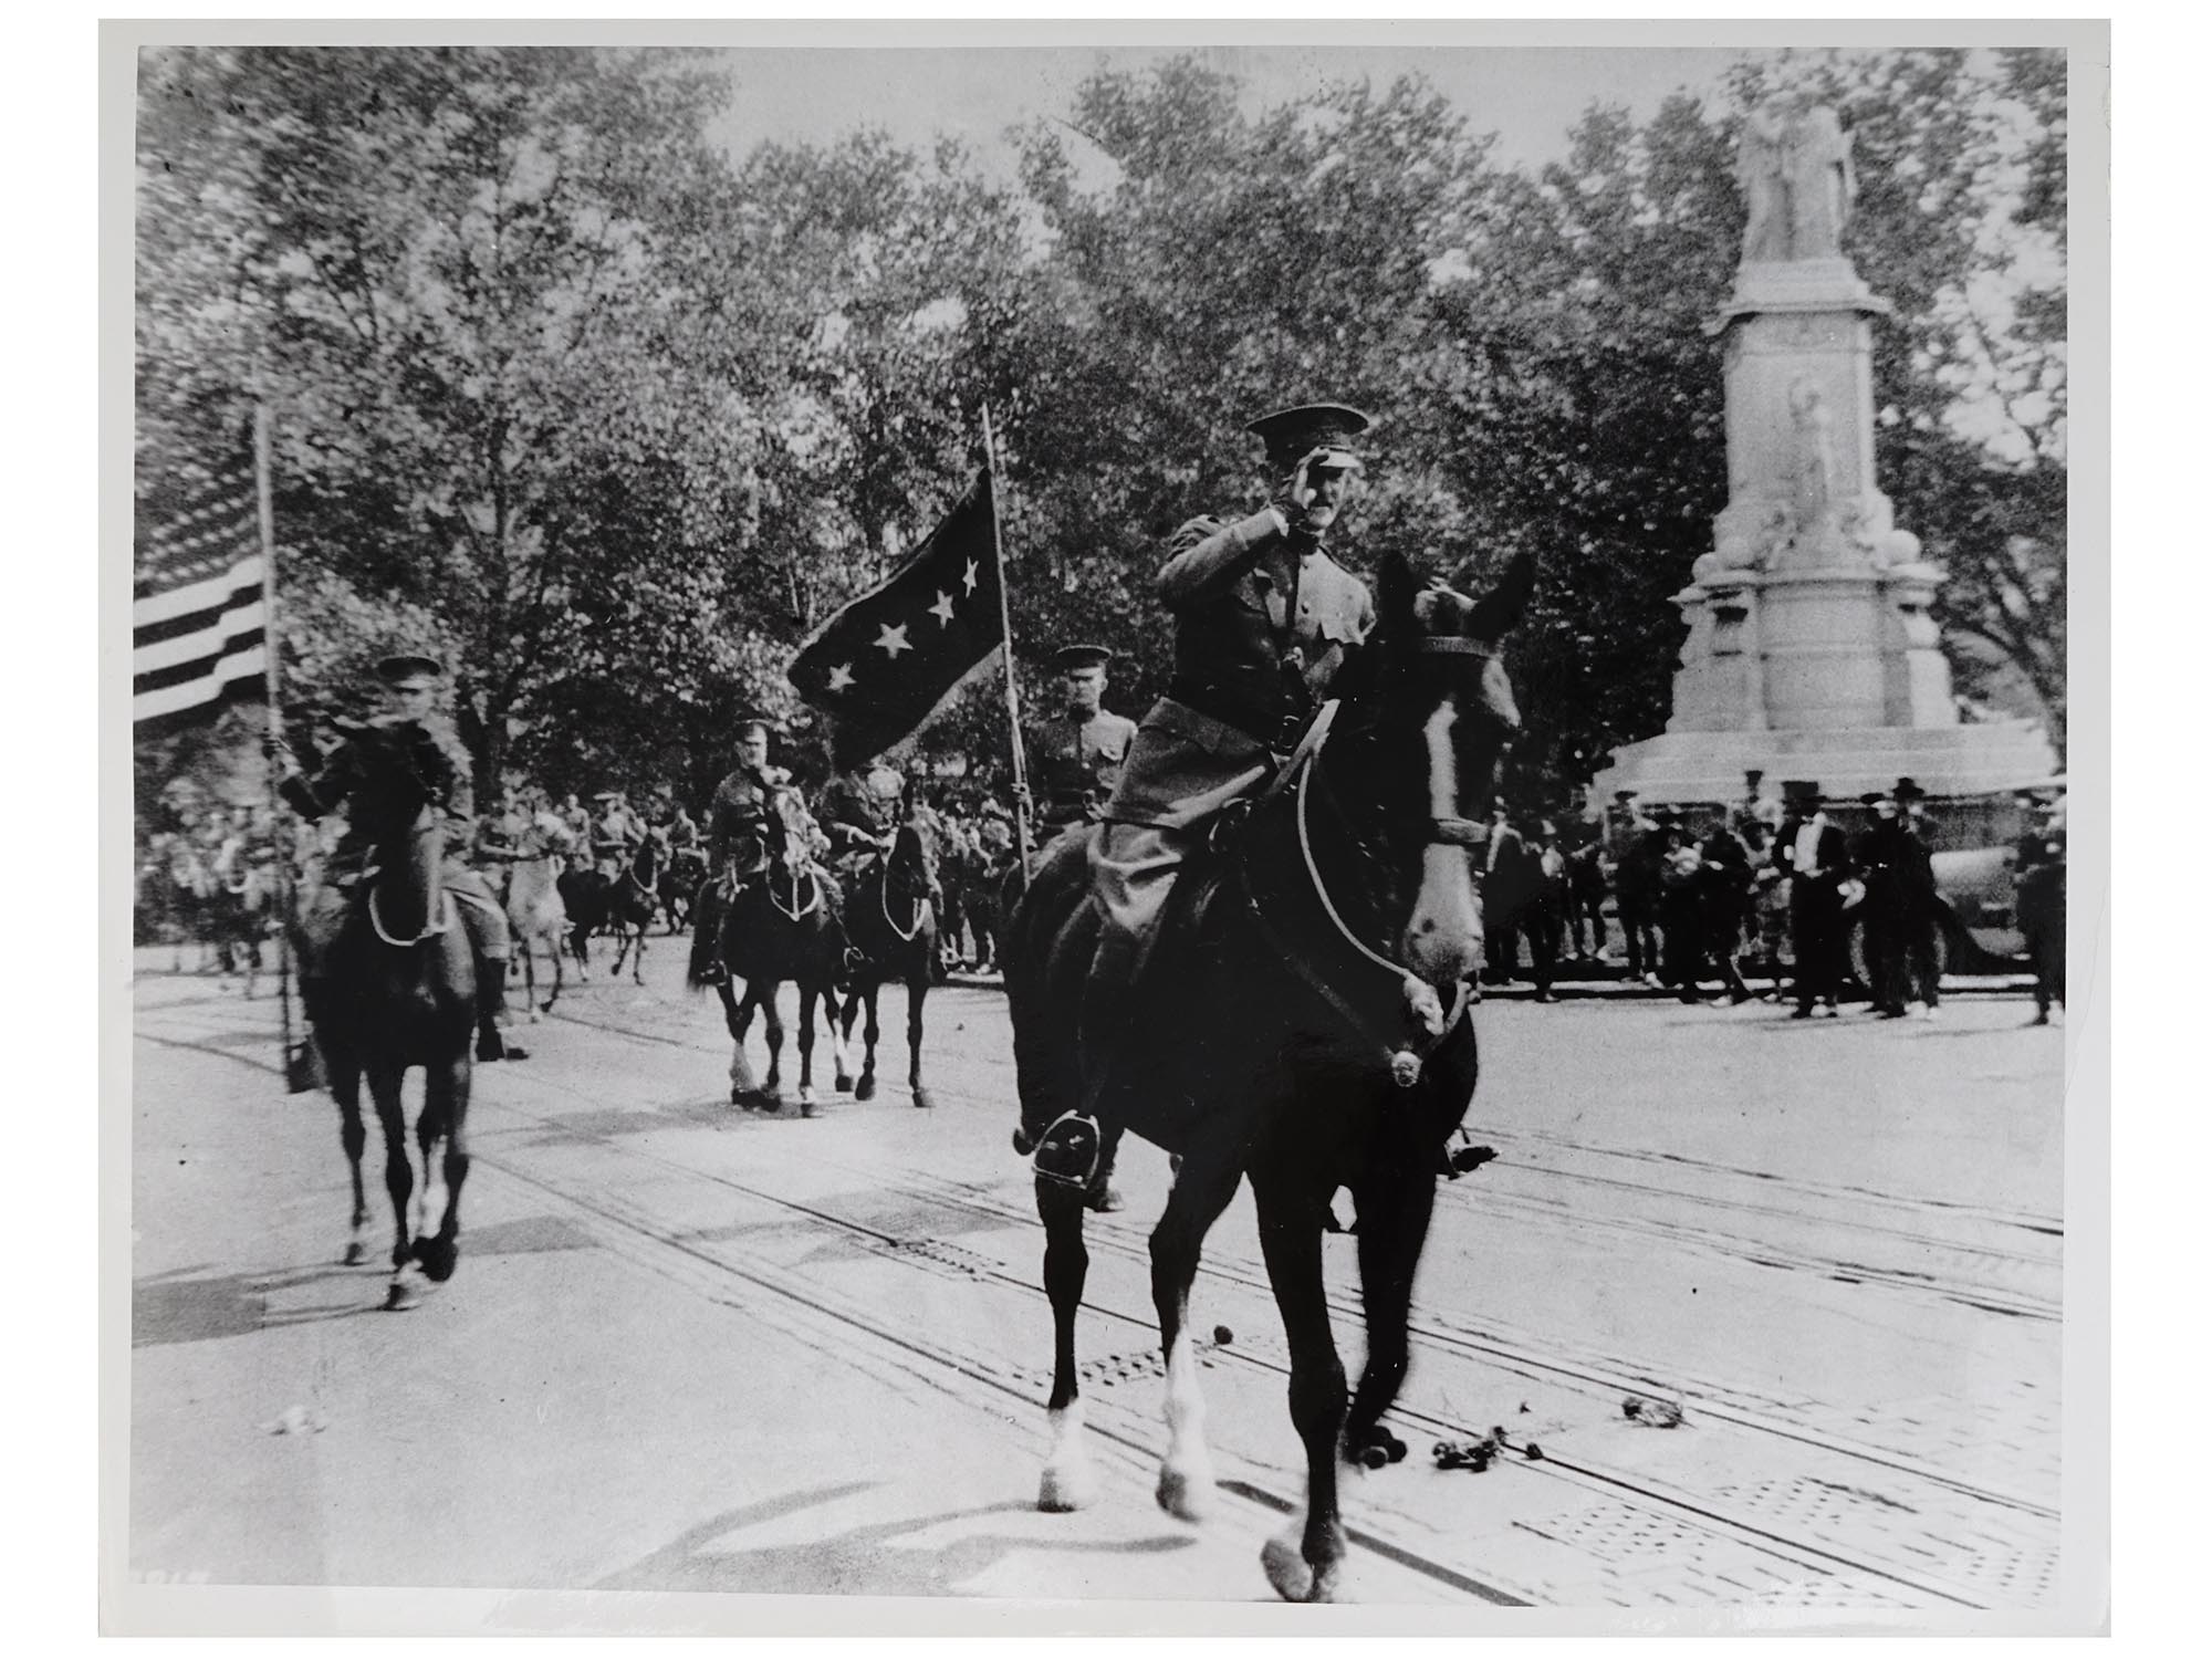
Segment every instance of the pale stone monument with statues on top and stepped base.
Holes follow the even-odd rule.
[[[1856,179],[1832,108],[1756,111],[1736,157],[1743,261],[1725,341],[1728,507],[1674,595],[1690,637],[1661,737],[1615,750],[1606,799],[1732,803],[1750,770],[1838,796],[1900,776],[1971,796],[2051,776],[2033,721],[1962,723],[1929,602],[1944,573],[1874,482],[1874,321],[1843,254]]]

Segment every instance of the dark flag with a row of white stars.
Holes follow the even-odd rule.
[[[830,717],[836,765],[860,765],[918,730],[1006,641],[995,511],[982,471],[914,557],[792,657],[792,686]]]

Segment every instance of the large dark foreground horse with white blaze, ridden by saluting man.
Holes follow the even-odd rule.
[[[1159,1504],[1199,1520],[1212,1498],[1190,1283],[1208,1228],[1252,1181],[1261,1248],[1290,1345],[1290,1416],[1305,1442],[1303,1533],[1267,1544],[1276,1593],[1340,1593],[1338,1455],[1394,1449],[1380,1425],[1407,1371],[1413,1270],[1444,1144],[1475,1086],[1464,980],[1480,953],[1469,849],[1498,761],[1520,728],[1498,637],[1533,571],[1517,560],[1471,602],[1416,591],[1398,557],[1380,573],[1376,633],[1336,681],[1274,785],[1186,867],[1172,931],[1152,951],[1133,1029],[1113,1055],[1106,1133],[1128,1128],[1179,1159],[1152,1228],[1152,1301],[1168,1371]],[[1062,836],[1037,865],[1006,951],[1022,1146],[1082,1099],[1077,1009],[1097,936],[1088,847]],[[1321,1274],[1329,1199],[1358,1206],[1367,1369],[1345,1398]],[[1053,1451],[1040,1509],[1088,1502],[1075,1312],[1084,1296],[1084,1199],[1037,1181],[1053,1303]],[[1402,1453],[1400,1453],[1402,1455]]]

